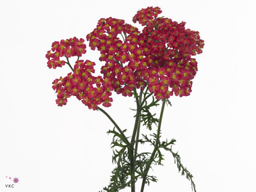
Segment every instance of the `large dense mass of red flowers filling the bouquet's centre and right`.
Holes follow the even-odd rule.
[[[91,49],[100,51],[99,60],[105,62],[101,73],[112,81],[116,93],[131,96],[134,88],[148,86],[156,99],[190,94],[197,70],[191,56],[202,53],[204,40],[198,31],[185,29],[185,22],[157,17],[159,13],[158,7],[136,13],[133,21],[145,26],[141,33],[124,20],[109,17],[100,19],[86,36]]]

